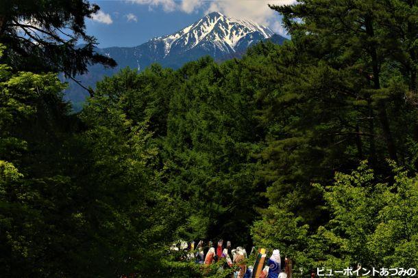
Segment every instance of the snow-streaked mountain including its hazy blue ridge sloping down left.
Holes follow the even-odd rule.
[[[286,39],[251,20],[212,12],[176,33],[153,38],[139,46],[97,48],[97,53],[112,57],[118,66],[114,69],[105,69],[101,65],[90,66],[88,73],[77,79],[84,85],[95,87],[95,83],[103,76],[110,76],[127,66],[143,70],[153,63],[159,63],[180,68],[187,61],[206,55],[217,61],[240,57],[249,46],[262,40],[281,44]],[[66,98],[82,102],[85,96],[86,92],[70,81]]]

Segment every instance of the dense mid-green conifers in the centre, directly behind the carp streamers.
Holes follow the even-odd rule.
[[[140,74],[123,70],[99,82],[82,115],[103,126],[152,133],[158,150],[160,189],[182,213],[178,238],[233,238],[250,244],[262,189],[253,183],[262,137],[249,70],[241,61],[218,66],[210,58],[173,72],[152,66]],[[241,83],[243,81],[243,83]],[[118,117],[115,117],[118,115]],[[180,209],[179,208],[179,209]]]

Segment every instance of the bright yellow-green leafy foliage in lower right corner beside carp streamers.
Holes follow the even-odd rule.
[[[315,231],[304,219],[271,206],[252,230],[256,245],[280,248],[293,258],[295,277],[314,268],[411,268],[417,262],[417,177],[391,164],[391,182],[380,183],[363,161],[352,173],[336,173],[323,193],[330,220]],[[341,276],[342,277],[342,276]]]

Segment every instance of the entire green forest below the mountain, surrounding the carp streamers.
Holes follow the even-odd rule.
[[[125,68],[77,114],[56,70],[71,51],[37,70],[8,24],[97,9],[49,23],[40,2],[0,11],[2,277],[230,277],[177,260],[179,239],[280,249],[294,277],[418,265],[415,0],[272,6],[284,44]]]

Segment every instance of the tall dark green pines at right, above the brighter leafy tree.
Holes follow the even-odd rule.
[[[258,88],[260,123],[268,130],[260,180],[271,204],[286,204],[315,229],[328,212],[310,184],[330,184],[336,171],[363,159],[378,176],[389,171],[386,158],[415,169],[413,66],[405,65],[415,63],[416,48],[393,34],[415,24],[417,7],[298,1],[271,8],[284,16],[292,40],[258,67],[267,88]]]

